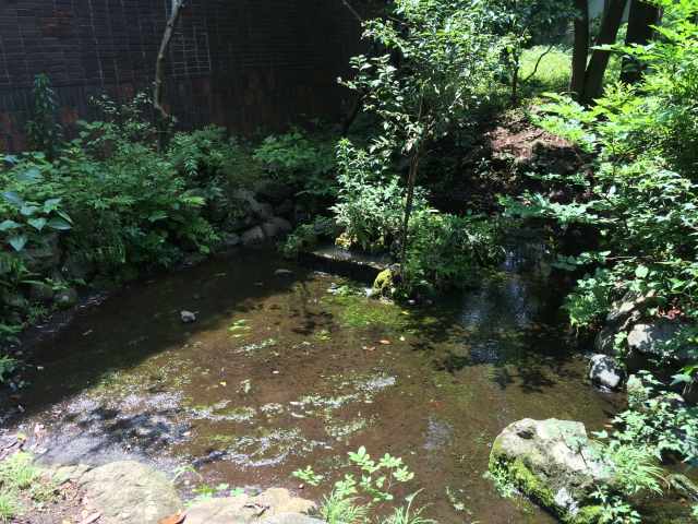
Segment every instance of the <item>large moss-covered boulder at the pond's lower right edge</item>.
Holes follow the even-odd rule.
[[[571,524],[598,522],[591,492],[611,480],[583,424],[554,418],[507,426],[492,445],[490,472]]]

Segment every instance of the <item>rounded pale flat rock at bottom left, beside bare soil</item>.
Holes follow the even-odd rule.
[[[160,473],[133,461],[113,462],[80,476],[86,504],[104,524],[157,524],[182,509],[172,484]]]

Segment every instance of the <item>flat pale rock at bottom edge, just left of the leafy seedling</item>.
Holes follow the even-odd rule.
[[[313,502],[281,488],[251,497],[239,495],[197,502],[186,511],[186,524],[322,524],[304,513]]]

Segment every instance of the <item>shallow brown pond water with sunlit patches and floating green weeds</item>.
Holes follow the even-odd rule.
[[[19,424],[47,462],[135,456],[239,487],[297,489],[294,469],[332,477],[365,445],[401,456],[443,523],[553,522],[496,495],[490,444],[524,417],[599,430],[618,406],[585,383],[559,290],[529,262],[512,250],[477,289],[419,309],[266,251],[158,277],[37,344]]]

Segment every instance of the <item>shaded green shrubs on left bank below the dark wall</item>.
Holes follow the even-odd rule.
[[[241,216],[234,191],[261,172],[251,155],[218,128],[178,133],[158,153],[147,104],[142,95],[125,105],[101,98],[104,119],[81,122],[55,158],[4,157],[1,336],[47,312],[43,287],[171,267],[188,252],[208,253]],[[3,360],[3,373],[10,367]]]

